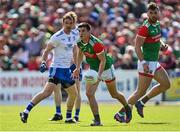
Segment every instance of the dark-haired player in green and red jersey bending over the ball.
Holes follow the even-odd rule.
[[[77,68],[73,72],[73,77],[78,78],[80,72],[80,65],[83,60],[83,55],[86,57],[87,63],[90,65],[90,69],[95,70],[98,73],[98,79],[95,83],[86,83],[86,95],[89,100],[89,104],[94,116],[94,122],[91,126],[100,126],[100,116],[98,110],[98,104],[95,99],[95,92],[97,90],[100,80],[106,83],[109,93],[112,98],[117,99],[123,104],[126,110],[126,122],[129,122],[132,118],[131,108],[126,102],[124,95],[117,91],[115,73],[113,67],[113,60],[104,51],[104,45],[101,40],[91,34],[91,26],[88,23],[80,23],[78,26],[80,39],[77,42],[78,45],[78,57],[76,60]]]

